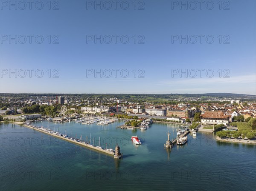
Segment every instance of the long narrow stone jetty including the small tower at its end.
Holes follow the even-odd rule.
[[[49,129],[46,129],[46,128],[43,128],[43,127],[37,127],[35,125],[29,125],[29,124],[23,124],[23,126],[27,127],[27,128],[31,128],[31,129],[34,129],[34,130],[37,130],[39,132],[42,132],[42,133],[45,133],[45,134],[49,134],[53,137],[57,137],[59,139],[62,139],[62,140],[65,140],[65,141],[68,141],[70,143],[74,143],[74,144],[77,144],[77,145],[80,145],[80,146],[83,146],[83,147],[86,147],[86,148],[89,148],[89,149],[92,149],[94,151],[99,151],[99,152],[102,152],[102,153],[105,153],[105,154],[108,154],[108,155],[111,155],[113,156],[114,158],[122,158],[122,154],[119,154],[120,153],[120,148],[118,148],[118,157],[116,157],[115,153],[114,152],[111,152],[111,151],[107,151],[101,147],[95,147],[93,145],[90,145],[89,143],[87,142],[82,142],[82,141],[77,141],[77,140],[72,140],[72,139],[69,139],[67,137],[61,137],[60,135],[58,134],[53,134],[53,133],[50,133],[48,131],[51,131]],[[41,129],[40,129],[41,128]],[[46,129],[47,131],[44,131],[44,129]]]

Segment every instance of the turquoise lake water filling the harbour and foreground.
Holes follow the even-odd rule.
[[[20,125],[1,124],[1,191],[69,190],[256,190],[256,145],[216,142],[213,134],[188,135],[186,145],[166,150],[166,132],[178,126],[154,123],[146,131],[80,123],[37,125],[94,145],[114,148],[122,160]],[[71,130],[71,131],[70,131]],[[131,143],[137,135],[142,145]],[[99,138],[101,137],[101,138]]]

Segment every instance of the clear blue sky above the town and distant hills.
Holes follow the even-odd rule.
[[[196,9],[198,1],[180,7],[180,1],[144,0],[136,10],[134,0],[119,1],[116,9],[113,1],[96,1],[102,9],[83,0],[50,7],[48,0],[34,1],[26,8],[15,2],[1,1],[0,92],[256,94],[253,0]],[[101,35],[102,43],[95,42]]]

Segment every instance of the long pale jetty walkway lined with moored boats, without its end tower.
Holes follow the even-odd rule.
[[[113,157],[114,157],[114,154],[115,154],[115,153],[113,153],[113,152],[111,152],[111,151],[106,151],[105,149],[97,148],[97,147],[95,147],[95,146],[93,146],[93,145],[90,145],[90,144],[84,144],[84,143],[77,142],[77,141],[75,141],[75,140],[70,140],[70,139],[67,139],[67,138],[65,138],[65,137],[61,137],[61,136],[59,136],[59,135],[49,133],[49,132],[47,132],[47,131],[43,131],[43,130],[38,129],[38,128],[33,128],[33,127],[29,126],[29,125],[24,125],[24,124],[23,124],[23,126],[25,126],[25,127],[27,127],[27,128],[31,128],[31,129],[37,130],[37,131],[42,132],[42,133],[45,133],[45,134],[49,134],[49,135],[51,135],[51,136],[53,136],[53,137],[57,137],[57,138],[59,138],[59,139],[62,139],[62,140],[65,140],[65,141],[68,141],[68,142],[71,142],[71,143],[75,143],[75,144],[77,144],[77,145],[80,145],[80,146],[83,146],[83,147],[86,147],[86,148],[93,149],[93,150],[95,150],[95,151],[99,151],[99,152],[102,152],[102,153],[111,155],[111,156],[113,156]]]

